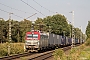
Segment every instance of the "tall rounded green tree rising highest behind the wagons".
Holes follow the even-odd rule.
[[[64,15],[53,15],[44,18],[44,23],[50,28],[51,33],[69,36],[70,29]]]

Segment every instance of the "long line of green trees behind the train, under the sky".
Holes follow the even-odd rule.
[[[16,21],[11,20],[11,38],[12,42],[24,42],[25,33],[27,31],[40,30],[44,32],[55,33],[63,36],[72,37],[72,25],[68,24],[68,21],[64,15],[56,14],[53,16],[47,16],[45,18],[37,18],[34,23],[30,20]],[[85,35],[79,28],[74,27],[75,38],[85,39]],[[9,20],[0,20],[0,42],[9,41]]]

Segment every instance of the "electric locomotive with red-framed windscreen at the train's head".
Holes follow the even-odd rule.
[[[25,49],[38,52],[48,47],[48,34],[40,31],[27,32],[25,36]]]

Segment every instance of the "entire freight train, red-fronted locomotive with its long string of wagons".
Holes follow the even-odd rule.
[[[80,39],[75,39],[74,44],[79,44]],[[56,35],[53,33],[43,33],[40,31],[27,32],[25,36],[25,51],[38,52],[45,49],[52,49],[72,44],[72,38]]]

